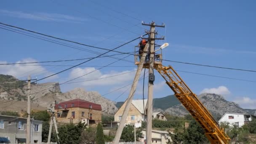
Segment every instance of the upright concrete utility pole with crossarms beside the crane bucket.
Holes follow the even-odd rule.
[[[147,144],[152,141],[152,107],[153,107],[153,86],[155,81],[154,62],[155,62],[155,22],[152,22],[150,27],[150,57],[149,57],[149,83],[148,83],[148,99],[147,99],[147,129],[146,138]]]

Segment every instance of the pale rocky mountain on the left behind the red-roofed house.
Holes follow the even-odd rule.
[[[0,91],[15,88],[19,85],[24,84],[26,84],[26,82],[18,80],[13,76],[0,75]],[[10,103],[16,103],[17,105],[18,103],[21,103],[19,101],[27,100],[27,94],[28,93],[26,85],[24,87],[15,88],[10,91],[0,93],[0,101],[7,101],[5,105]],[[40,107],[40,110],[42,109],[42,107],[47,109],[50,104],[52,104],[55,100],[61,102],[79,98],[85,101],[91,101],[96,104],[101,104],[102,112],[105,115],[113,115],[117,111],[115,102],[101,97],[101,95],[96,91],[85,91],[83,88],[75,88],[72,91],[61,93],[59,83],[32,83],[31,94],[32,103]],[[8,110],[11,109],[12,107],[8,107]],[[37,109],[37,107],[35,107],[35,109]],[[16,111],[16,109],[13,108],[13,111]]]

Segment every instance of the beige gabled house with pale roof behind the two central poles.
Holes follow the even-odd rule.
[[[115,113],[115,122],[120,122],[126,103],[127,101],[125,101],[122,107],[120,107]],[[131,107],[129,109],[128,117],[126,118],[125,124],[135,125],[136,128],[141,127],[142,121],[144,121],[145,118],[147,117],[146,108],[147,108],[147,99],[144,99],[144,107],[143,107],[143,99],[133,100],[131,103]],[[145,111],[145,114],[144,114],[144,111]],[[166,120],[165,116],[161,112],[154,112],[152,114],[152,117],[153,118],[158,117],[160,120]]]

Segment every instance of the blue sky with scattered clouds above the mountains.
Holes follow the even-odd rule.
[[[163,59],[207,64],[221,67],[256,70],[256,3],[248,0],[246,3],[238,0],[228,1],[93,1],[93,0],[45,0],[45,1],[9,1],[2,0],[0,5],[0,21],[18,27],[35,30],[44,34],[54,35],[69,40],[96,45],[103,48],[114,48],[124,42],[144,34],[149,23],[154,20],[157,24],[165,23],[166,28],[157,28],[158,37],[165,35],[165,42],[171,46],[163,50]],[[154,8],[152,12],[150,9]],[[78,59],[93,57],[96,54],[49,43],[25,35],[0,29],[1,63],[17,61],[51,61],[60,59]],[[110,38],[109,38],[110,37]],[[66,43],[66,42],[65,42]],[[134,45],[139,40],[125,45],[118,51],[134,51]],[[69,43],[71,45],[75,45]],[[79,47],[88,50],[103,50]],[[110,53],[115,54],[115,53]],[[123,58],[123,55],[117,56]],[[133,56],[126,58],[134,61]],[[100,58],[84,65],[93,67],[78,67],[55,77],[43,80],[46,82],[65,82],[91,72],[94,69],[115,61],[111,58]],[[59,62],[51,64],[75,65],[81,61]],[[254,72],[243,72],[227,69],[200,67],[178,64],[168,61],[174,69],[197,72],[208,75],[218,75],[237,79],[256,81]],[[117,75],[136,69],[133,63],[118,61],[113,66],[81,77],[77,81]],[[32,78],[42,78],[59,72],[68,67],[47,66],[1,66],[0,73],[14,75],[24,79],[31,74]],[[215,92],[222,94],[227,100],[235,101],[243,108],[256,109],[255,83],[229,80],[179,72],[179,75],[196,93]],[[73,88],[85,88],[86,91],[99,91],[102,95],[132,82],[134,72],[111,79],[97,80],[87,83],[62,85],[63,92]],[[146,80],[147,81],[147,80]],[[147,87],[147,84],[146,84]],[[116,99],[127,88],[105,95],[106,98],[124,101],[128,91]],[[141,99],[142,83],[134,99]],[[147,88],[145,88],[147,91]],[[147,94],[147,93],[145,93]],[[156,72],[154,97],[164,97],[173,94],[164,84],[162,77]]]

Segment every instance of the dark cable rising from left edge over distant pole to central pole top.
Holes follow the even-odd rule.
[[[128,43],[131,43],[131,42],[133,42],[133,41],[135,41],[135,40],[137,40],[137,39],[139,39],[139,38],[141,38],[141,37],[137,37],[137,38],[135,38],[135,39],[133,39],[133,40],[127,42],[127,43],[124,43],[123,45],[126,45],[126,44],[128,44]],[[60,72],[57,72],[57,73],[55,73],[55,74],[49,75],[49,76],[47,76],[47,77],[43,77],[43,78],[41,78],[41,79],[39,79],[39,80],[46,79],[46,78],[51,77],[51,76],[53,76],[53,75],[57,75],[57,74],[59,74],[59,73],[61,73],[61,72],[64,72],[64,71],[67,71],[67,70],[72,69],[72,68],[74,68],[74,67],[77,67],[77,66],[79,66],[79,65],[81,65],[81,64],[84,64],[84,63],[86,63],[86,62],[88,62],[88,61],[91,61],[91,60],[93,60],[93,59],[96,59],[96,58],[98,58],[99,56],[102,56],[102,55],[104,55],[104,54],[106,54],[106,53],[109,53],[110,51],[113,51],[113,50],[115,50],[115,49],[117,49],[117,48],[120,48],[120,47],[122,47],[123,45],[120,45],[120,46],[118,46],[118,47],[116,47],[116,48],[113,48],[113,49],[111,49],[111,50],[109,50],[109,51],[107,51],[107,52],[105,52],[105,53],[102,53],[102,54],[100,54],[100,55],[98,55],[98,56],[96,56],[96,57],[94,57],[94,58],[92,58],[92,59],[89,59],[89,60],[87,60],[87,61],[84,61],[84,62],[82,62],[82,63],[80,63],[80,64],[77,64],[77,65],[75,65],[75,66],[73,66],[73,67],[69,67],[68,69],[64,69],[64,70],[62,70],[62,71],[60,71]],[[39,81],[39,80],[35,80],[35,81],[33,81],[32,83],[35,83],[35,82],[37,82],[37,81]],[[25,84],[25,85],[27,85],[27,84]],[[20,85],[19,87],[21,87],[21,86],[24,86],[24,85]],[[16,88],[19,88],[19,87],[16,87]],[[5,90],[5,91],[9,91],[9,90],[12,90],[12,89],[15,89],[15,88],[10,88],[10,89]],[[1,91],[0,93],[5,92],[5,91]]]

